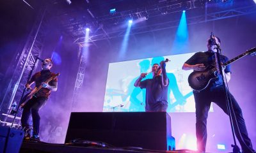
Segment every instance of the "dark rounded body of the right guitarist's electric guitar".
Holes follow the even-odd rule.
[[[218,75],[210,68],[205,71],[193,71],[188,77],[188,84],[194,91],[202,91],[217,79]]]

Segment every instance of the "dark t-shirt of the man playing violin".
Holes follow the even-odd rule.
[[[156,108],[159,103],[166,105],[167,108],[168,85],[164,86],[162,84],[161,76],[157,76],[140,82],[141,89],[146,89],[146,111],[154,110],[154,108]]]

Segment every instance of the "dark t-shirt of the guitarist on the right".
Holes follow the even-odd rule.
[[[220,55],[220,61],[222,63],[225,63],[228,61],[228,57],[225,55]],[[197,52],[192,57],[188,59],[188,61],[185,62],[189,65],[195,65],[195,64],[204,64],[204,66],[216,66],[215,64],[215,55],[214,52]],[[230,71],[230,65],[226,66],[225,73],[231,72]],[[218,79],[215,80],[215,82],[212,82],[212,84],[209,85],[209,87],[218,87],[220,85],[223,85],[222,77],[218,74]]]

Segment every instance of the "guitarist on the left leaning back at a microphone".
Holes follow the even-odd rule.
[[[40,140],[39,138],[39,127],[40,127],[40,115],[38,111],[42,106],[45,105],[47,99],[49,98],[51,91],[57,91],[57,78],[51,80],[49,84],[46,84],[45,81],[54,75],[50,71],[52,68],[52,60],[45,59],[42,63],[42,71],[35,73],[31,80],[26,84],[27,89],[31,89],[30,85],[35,83],[36,87],[40,87],[42,85],[42,89],[40,89],[36,94],[33,95],[33,98],[29,99],[28,103],[26,103],[22,108],[24,108],[21,117],[21,125],[24,131],[28,131],[29,129],[29,117],[32,115],[33,120],[33,136],[31,138],[35,140]],[[27,138],[29,138],[28,135]]]

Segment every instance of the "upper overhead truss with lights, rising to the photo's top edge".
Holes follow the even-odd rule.
[[[79,15],[76,16],[77,18],[72,17],[67,20],[67,18],[62,18],[65,15],[67,16],[67,13],[64,13],[64,15],[60,15],[60,18],[63,19],[61,20],[61,27],[63,27],[63,29],[70,33],[74,38],[79,38],[84,35],[84,27],[93,27],[95,31],[98,31],[99,29],[104,31],[104,29],[111,29],[113,25],[124,24],[128,18],[132,18],[133,20],[140,18],[147,19],[161,15],[168,15],[181,10],[198,8],[201,6],[199,1],[201,0],[164,0],[163,2],[157,2],[157,4],[145,6],[145,8],[120,11],[99,17],[95,17],[92,12],[87,9],[84,13],[89,13],[93,18],[89,21],[85,20],[85,18],[78,18]],[[102,25],[104,25],[104,29]]]

